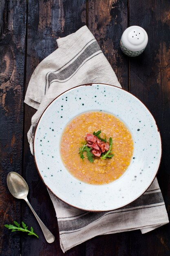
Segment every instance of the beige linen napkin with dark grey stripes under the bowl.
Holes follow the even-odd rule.
[[[115,72],[86,26],[57,39],[58,49],[46,57],[31,76],[24,102],[37,109],[28,140],[33,153],[35,127],[45,108],[62,92],[80,84],[107,83],[121,87]],[[63,252],[94,236],[140,229],[142,234],[169,222],[159,184],[137,200],[114,211],[87,212],[60,201],[49,191]]]

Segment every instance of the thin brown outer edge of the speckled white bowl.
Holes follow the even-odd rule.
[[[117,86],[115,86],[115,85],[110,85],[110,84],[107,84],[107,83],[86,83],[86,84],[82,84],[82,85],[77,85],[77,86],[74,86],[74,87],[72,87],[72,88],[70,88],[70,89],[68,89],[68,90],[66,90],[66,91],[64,91],[64,92],[62,92],[62,93],[61,93],[60,95],[58,95],[55,99],[53,99],[53,101],[55,101],[58,97],[60,97],[60,96],[61,96],[62,94],[64,94],[65,92],[68,92],[68,91],[70,91],[70,90],[73,90],[74,88],[78,88],[78,87],[81,87],[81,86],[92,86],[92,85],[109,85],[109,86],[112,86],[112,87],[116,87],[116,88],[118,88],[118,89],[120,89],[120,90],[123,90],[123,91],[125,91],[125,92],[131,94],[133,97],[135,97],[137,100],[139,100],[139,101],[142,103],[142,105],[144,105],[144,103],[143,103],[140,99],[138,99],[135,95],[133,95],[132,93],[130,93],[130,92],[124,90],[123,88],[117,87]],[[43,111],[42,115],[44,115],[44,112],[45,112],[46,109],[53,103],[53,101],[51,101],[51,103],[45,108],[45,110]],[[153,115],[152,115],[152,113],[150,112],[150,110],[149,110],[145,105],[144,105],[144,107],[148,110],[148,112],[150,113],[150,115],[152,116],[152,118],[153,118],[154,121],[155,121],[155,118],[153,117]],[[41,118],[42,118],[42,115],[41,115],[40,119],[38,120],[38,124],[39,124],[39,122],[40,122],[40,120],[41,120]],[[35,128],[35,133],[36,133],[36,131],[37,131],[38,124],[37,124],[37,126],[36,126],[36,128]],[[157,122],[156,122],[156,121],[155,121],[155,125],[157,126]],[[159,167],[160,167],[161,159],[162,159],[162,140],[161,140],[161,134],[160,134],[160,130],[159,130],[158,126],[157,126],[157,131],[159,132],[160,142],[161,142],[161,157],[160,157],[160,161],[159,161],[159,165],[158,165],[157,171],[156,171],[156,173],[155,173],[155,177],[157,176],[157,173],[158,173],[158,171],[159,171]],[[49,186],[47,186],[46,183],[44,182],[43,177],[41,176],[40,171],[39,171],[39,169],[38,169],[38,165],[37,165],[37,162],[36,162],[36,159],[35,159],[35,150],[34,150],[34,147],[35,147],[35,146],[34,146],[34,144],[35,144],[35,133],[34,133],[34,138],[33,138],[33,158],[34,158],[35,166],[36,166],[36,168],[37,168],[38,174],[40,175],[40,178],[42,179],[42,182],[45,184],[45,186],[47,187],[47,189],[49,189],[49,191],[50,191],[53,195],[55,195],[55,193],[54,193],[54,192],[49,188]],[[74,208],[76,208],[76,209],[79,209],[79,210],[89,211],[89,212],[113,211],[113,210],[121,209],[122,207],[125,207],[125,206],[131,204],[132,202],[134,202],[135,200],[137,200],[137,198],[139,198],[141,195],[143,195],[143,194],[148,190],[148,188],[152,185],[152,183],[153,183],[154,180],[155,180],[155,177],[154,177],[153,180],[151,181],[150,185],[144,190],[144,192],[142,192],[140,195],[138,195],[135,199],[133,199],[132,201],[130,201],[130,202],[127,203],[127,204],[122,205],[121,207],[114,208],[114,209],[110,209],[110,210],[89,210],[89,209],[87,210],[87,209],[75,207],[74,205],[69,204],[68,202],[62,200],[59,196],[57,196],[57,195],[55,195],[55,196],[56,196],[58,199],[60,199],[62,202],[64,202],[64,203],[70,205],[71,207],[74,207]]]

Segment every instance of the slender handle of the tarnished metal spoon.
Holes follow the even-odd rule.
[[[47,227],[44,225],[44,223],[40,220],[40,218],[38,217],[37,213],[35,213],[33,207],[31,206],[31,204],[29,203],[29,200],[27,198],[24,198],[24,200],[27,202],[27,204],[29,205],[30,209],[32,210],[35,218],[37,219],[38,223],[40,224],[40,227],[42,229],[42,232],[45,236],[45,239],[48,243],[53,243],[55,240],[55,236],[53,236],[53,234],[49,231],[49,229],[47,229]]]

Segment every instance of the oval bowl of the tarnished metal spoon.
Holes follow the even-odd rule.
[[[28,195],[29,187],[26,181],[18,173],[8,173],[7,186],[9,191],[15,198],[24,199]]]

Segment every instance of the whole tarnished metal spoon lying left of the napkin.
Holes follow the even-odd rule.
[[[19,175],[18,173],[10,172],[7,175],[7,185],[8,185],[9,191],[15,198],[24,199],[27,202],[27,204],[29,205],[30,209],[32,210],[35,218],[38,220],[38,223],[40,224],[40,227],[42,229],[42,232],[45,236],[46,241],[48,243],[53,243],[55,240],[55,237],[49,231],[49,229],[47,229],[47,227],[44,225],[44,223],[40,220],[40,218],[35,213],[31,204],[29,203],[29,201],[27,199],[29,187],[28,187],[26,181],[23,179],[23,177],[21,175]]]

